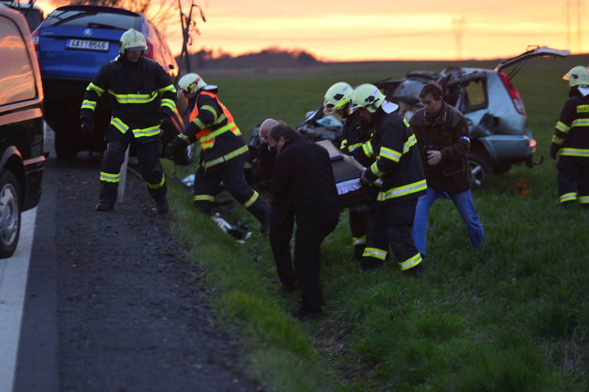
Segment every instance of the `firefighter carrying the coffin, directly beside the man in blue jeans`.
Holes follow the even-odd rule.
[[[382,268],[388,246],[404,274],[423,272],[421,255],[411,229],[418,197],[427,188],[415,134],[407,120],[394,113],[395,103],[375,85],[356,87],[349,112],[358,111],[370,123],[375,160],[361,181],[372,187],[368,210],[366,249],[362,269]]]

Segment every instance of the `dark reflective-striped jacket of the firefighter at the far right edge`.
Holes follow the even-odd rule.
[[[561,157],[568,162],[589,162],[589,96],[577,94],[564,103],[552,143],[561,147]]]

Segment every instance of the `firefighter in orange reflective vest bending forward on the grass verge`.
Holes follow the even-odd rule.
[[[261,223],[260,232],[268,230],[270,206],[246,182],[243,167],[248,153],[246,141],[233,116],[217,97],[219,87],[206,84],[203,78],[188,73],[178,81],[178,88],[188,99],[190,124],[166,147],[173,160],[189,144],[200,141],[200,165],[194,176],[194,205],[211,215],[217,186],[225,188]]]

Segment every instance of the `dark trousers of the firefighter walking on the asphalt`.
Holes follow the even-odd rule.
[[[125,160],[125,151],[134,141],[137,150],[137,162],[140,166],[141,176],[147,183],[147,193],[155,202],[161,202],[166,198],[167,186],[164,180],[164,170],[161,167],[160,155],[162,145],[160,139],[141,142],[133,137],[131,131],[123,134],[114,127],[109,127],[104,141],[107,150],[102,157],[100,171],[100,202],[114,205],[117,201],[118,183],[121,176],[121,165]]]

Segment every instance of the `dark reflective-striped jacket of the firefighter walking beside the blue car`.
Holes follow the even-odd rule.
[[[162,115],[171,117],[176,108],[176,88],[157,62],[141,57],[128,64],[123,56],[102,65],[86,88],[80,117],[92,117],[98,98],[108,93],[112,107],[111,126],[133,132],[138,141],[160,137]]]

